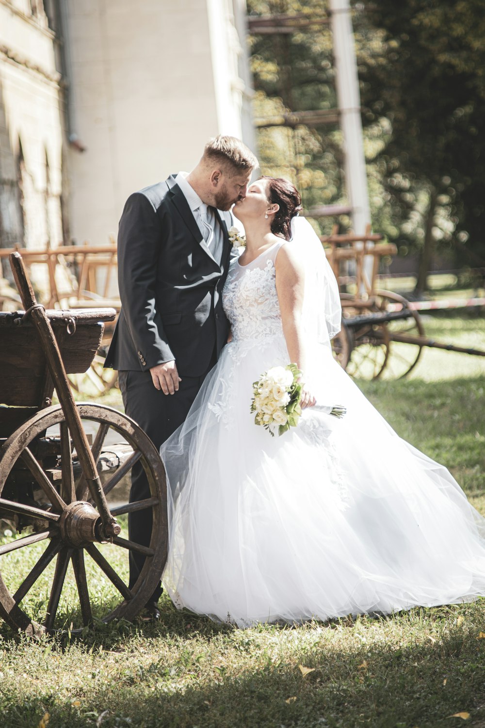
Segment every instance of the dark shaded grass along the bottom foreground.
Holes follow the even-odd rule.
[[[414,610],[409,620],[419,621],[419,614]],[[208,620],[192,625],[188,617],[180,615],[179,630],[182,624],[189,632],[200,627],[197,634],[208,640],[215,630],[220,633]],[[365,622],[372,628],[395,619],[401,617]],[[345,625],[351,628],[352,620],[336,620],[323,629]],[[153,636],[163,638],[165,628],[170,625],[153,627]],[[289,630],[263,629],[273,635]],[[306,676],[301,662],[312,670]],[[152,661],[121,670],[116,681],[100,689],[87,686],[75,703],[55,692],[39,695],[32,690],[20,700],[15,692],[4,691],[0,708],[2,725],[8,728],[35,727],[44,712],[49,713],[49,728],[448,728],[460,720],[450,716],[462,711],[471,713],[468,725],[478,726],[485,720],[484,670],[484,650],[475,636],[452,628],[439,640],[423,639],[401,649],[354,641],[342,651],[328,641],[317,642],[311,652],[293,649],[286,658],[266,655],[250,670],[242,659],[239,670],[225,666],[221,655],[213,665],[203,666],[196,657],[174,665]]]

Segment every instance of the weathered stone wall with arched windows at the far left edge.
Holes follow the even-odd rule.
[[[60,81],[42,0],[0,0],[2,248],[42,248],[65,237]]]

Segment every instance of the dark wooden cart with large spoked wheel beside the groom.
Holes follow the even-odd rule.
[[[167,558],[164,466],[132,419],[75,403],[66,376],[86,371],[116,312],[45,311],[20,255],[10,263],[25,313],[0,312],[0,616],[29,634],[132,620]],[[129,503],[135,465],[150,493]],[[127,514],[143,509],[153,521],[148,546],[124,533]],[[134,552],[147,558],[129,588]]]

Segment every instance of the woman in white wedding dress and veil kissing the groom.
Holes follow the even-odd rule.
[[[161,447],[164,586],[176,606],[242,627],[484,596],[485,519],[332,357],[338,290],[299,205],[291,184],[261,178],[233,209],[247,243],[223,291],[232,341]],[[290,362],[303,372],[303,414],[272,438],[254,424],[252,383]]]

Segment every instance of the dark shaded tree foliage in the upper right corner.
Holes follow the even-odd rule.
[[[364,123],[385,116],[392,127],[380,159],[400,233],[415,233],[413,213],[415,218],[425,207],[421,214],[432,216],[434,240],[460,261],[483,265],[483,3],[371,0],[359,13],[358,27],[361,39],[381,33],[379,54],[359,55],[359,75],[368,109]],[[420,197],[427,204],[420,206]]]

